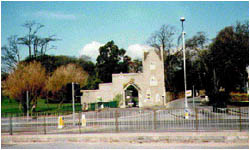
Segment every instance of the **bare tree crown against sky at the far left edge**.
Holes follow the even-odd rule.
[[[17,36],[10,36],[8,38],[8,46],[1,47],[1,59],[2,59],[2,72],[9,72],[11,71],[18,62],[20,62],[20,52],[18,46]]]

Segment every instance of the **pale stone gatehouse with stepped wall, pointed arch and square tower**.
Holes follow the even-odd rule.
[[[162,106],[166,104],[164,82],[163,51],[154,48],[144,51],[142,73],[112,74],[112,83],[99,84],[98,90],[81,90],[81,103],[88,104],[112,101],[117,95],[122,95],[121,107],[126,107],[125,91],[133,86],[138,91],[139,107]]]

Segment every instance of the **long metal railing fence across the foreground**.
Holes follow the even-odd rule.
[[[249,108],[213,110],[212,107],[189,109],[108,109],[103,111],[64,113],[2,114],[2,134],[68,134],[87,132],[140,131],[217,131],[249,130]],[[58,128],[59,117],[63,127]]]

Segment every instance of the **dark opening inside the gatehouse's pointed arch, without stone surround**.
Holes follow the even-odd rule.
[[[138,107],[139,106],[139,92],[133,85],[129,85],[125,89],[125,104],[126,107]]]

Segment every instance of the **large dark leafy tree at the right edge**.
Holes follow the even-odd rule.
[[[237,23],[222,29],[209,47],[209,53],[204,57],[208,71],[206,92],[211,97],[211,103],[218,103],[219,89],[229,92],[242,89],[247,78],[246,67],[249,66],[249,26],[248,22]]]

